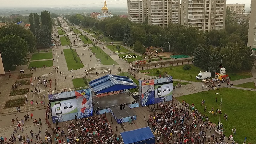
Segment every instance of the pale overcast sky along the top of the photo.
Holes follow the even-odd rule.
[[[127,0],[106,0],[109,7],[127,7]],[[22,7],[99,7],[104,0],[1,0],[1,8]],[[245,4],[250,7],[251,0],[227,0],[227,4]]]

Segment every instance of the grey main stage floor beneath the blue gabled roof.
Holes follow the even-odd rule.
[[[95,97],[94,100],[95,100],[95,107],[99,109],[106,109],[106,107],[119,106],[120,104],[123,104],[123,103],[132,104],[133,101],[136,101],[131,95],[128,95],[128,92],[108,95],[103,97]],[[127,105],[126,107],[129,108]]]

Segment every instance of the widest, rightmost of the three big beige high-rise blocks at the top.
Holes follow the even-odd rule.
[[[226,0],[182,0],[181,24],[207,32],[225,28]]]

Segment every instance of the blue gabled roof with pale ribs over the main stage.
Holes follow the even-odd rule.
[[[127,76],[106,75],[89,82],[97,94],[136,88],[137,85]]]

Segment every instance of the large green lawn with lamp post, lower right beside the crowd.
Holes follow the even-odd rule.
[[[216,95],[216,92],[223,95],[220,121],[224,125],[224,134],[229,136],[232,128],[236,128],[237,135],[233,135],[235,141],[242,143],[244,137],[246,136],[246,143],[254,143],[256,141],[256,117],[253,114],[255,113],[254,105],[256,103],[256,97],[253,97],[253,95],[256,95],[255,91],[220,88],[217,91],[204,91],[177,97],[177,99],[179,101],[184,99],[189,104],[194,103],[196,109],[209,116],[209,120],[218,125],[219,115],[212,116],[211,113],[208,113],[208,111],[211,111],[212,107],[214,108],[214,111],[217,108],[220,109],[221,95]],[[217,103],[215,101],[216,97]],[[205,105],[207,107],[206,113],[204,112],[204,106],[201,106],[202,99],[205,100]],[[228,115],[227,121],[224,120],[225,113]]]

